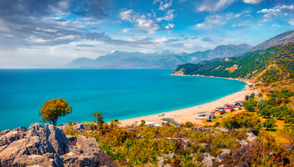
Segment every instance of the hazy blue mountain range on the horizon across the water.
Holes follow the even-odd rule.
[[[246,44],[220,45],[207,51],[196,51],[192,54],[175,54],[172,51],[158,51],[154,54],[137,52],[114,51],[111,54],[100,56],[96,59],[77,58],[63,65],[65,68],[113,68],[113,69],[138,69],[138,68],[174,68],[183,63],[199,63],[215,58],[226,58],[241,54],[251,49]]]

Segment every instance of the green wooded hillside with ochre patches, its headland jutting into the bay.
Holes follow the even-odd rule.
[[[173,74],[252,79],[268,83],[294,77],[294,42],[240,58],[179,65]]]

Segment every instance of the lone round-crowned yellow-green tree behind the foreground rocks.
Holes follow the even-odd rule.
[[[53,125],[57,124],[60,117],[72,113],[72,106],[68,104],[68,100],[52,99],[48,100],[40,108],[38,116],[42,116],[41,122],[50,122]]]

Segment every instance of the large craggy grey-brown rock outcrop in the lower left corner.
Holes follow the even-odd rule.
[[[54,125],[32,124],[0,132],[2,166],[115,166],[95,138],[65,136]]]

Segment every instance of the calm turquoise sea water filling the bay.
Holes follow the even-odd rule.
[[[172,70],[0,70],[0,130],[39,122],[52,98],[72,105],[58,123],[106,121],[203,104],[238,92],[245,83],[208,77],[171,76]]]

